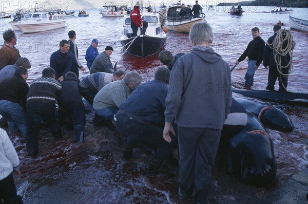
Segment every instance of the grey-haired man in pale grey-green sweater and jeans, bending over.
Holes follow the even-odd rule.
[[[104,86],[94,98],[95,114],[112,121],[120,105],[127,99],[130,92],[139,86],[141,81],[142,77],[138,73],[129,72],[124,79]]]

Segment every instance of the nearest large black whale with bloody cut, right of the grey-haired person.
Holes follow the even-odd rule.
[[[241,181],[265,187],[276,177],[274,145],[260,121],[233,99],[221,135],[219,156]]]

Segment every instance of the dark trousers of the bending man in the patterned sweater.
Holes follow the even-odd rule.
[[[61,127],[55,116],[54,103],[27,104],[27,152],[30,156],[38,155],[37,135],[40,133],[41,121],[50,126],[54,136],[62,137]],[[61,133],[61,134],[59,134]]]

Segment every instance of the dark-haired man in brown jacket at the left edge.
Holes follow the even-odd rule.
[[[0,70],[10,64],[15,64],[21,57],[19,51],[14,47],[17,43],[17,36],[12,29],[3,32],[4,45],[0,49]]]

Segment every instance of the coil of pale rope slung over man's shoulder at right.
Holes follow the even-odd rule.
[[[293,71],[293,63],[292,63],[293,49],[295,46],[295,41],[293,39],[293,35],[291,31],[285,30],[285,29],[279,30],[277,32],[276,37],[274,38],[273,43],[269,44],[268,42],[266,42],[266,44],[268,45],[269,48],[273,49],[274,59],[275,59],[276,67],[277,67],[279,74],[285,77],[291,75],[291,72]],[[285,56],[289,53],[290,53],[290,61],[287,63],[287,65],[282,66],[282,63],[281,63],[282,56]],[[288,73],[286,74],[282,73],[282,69],[287,68],[289,66],[290,66],[290,69]]]

